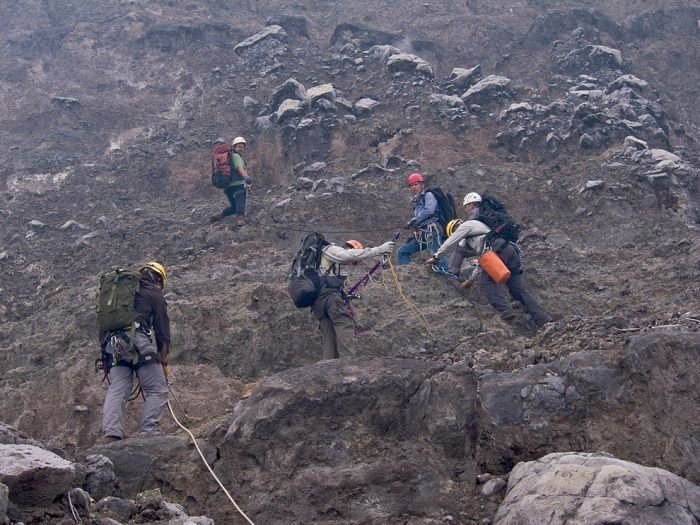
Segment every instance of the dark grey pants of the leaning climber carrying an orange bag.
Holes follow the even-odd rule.
[[[520,254],[512,244],[508,244],[498,256],[503,261],[503,264],[510,270],[510,279],[506,281],[508,292],[510,295],[522,304],[530,314],[532,321],[537,326],[542,326],[552,320],[550,315],[542,308],[537,299],[525,288],[525,278],[523,277],[522,265],[520,262]],[[479,280],[480,289],[484,292],[489,304],[499,313],[502,319],[509,320],[515,315],[510,301],[507,301],[503,296],[502,289],[497,285],[486,272],[481,272]]]

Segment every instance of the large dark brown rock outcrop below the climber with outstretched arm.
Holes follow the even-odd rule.
[[[475,396],[475,376],[458,365],[322,361],[236,405],[217,468],[246,480],[260,522],[312,523],[323,508],[353,523],[450,509],[458,484],[446,477],[475,479]]]

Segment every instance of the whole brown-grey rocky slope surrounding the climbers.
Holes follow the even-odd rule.
[[[498,520],[511,511],[478,476],[550,452],[700,482],[692,2],[25,0],[0,17],[0,421],[95,452],[97,277],[157,258],[174,391],[258,523]],[[235,135],[247,221],[211,225],[210,148]],[[383,242],[414,170],[508,203],[556,324],[514,331],[417,256],[362,290],[358,359],[316,363],[316,323],[284,287],[303,232]],[[157,487],[238,523],[163,427],[99,450],[114,494]],[[136,448],[161,466],[125,470]]]

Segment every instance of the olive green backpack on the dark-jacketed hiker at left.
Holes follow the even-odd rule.
[[[100,343],[110,332],[134,326],[134,297],[140,284],[141,274],[133,270],[114,268],[102,274],[96,301]]]

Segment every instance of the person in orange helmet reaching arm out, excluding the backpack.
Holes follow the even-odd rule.
[[[364,248],[356,240],[346,241],[342,247],[328,244],[323,248],[318,269],[322,276],[321,291],[311,305],[323,335],[323,359],[356,355],[355,319],[350,297],[343,289],[346,276],[341,274],[340,265],[390,254],[393,249],[393,241]]]

